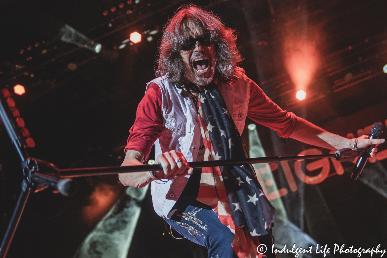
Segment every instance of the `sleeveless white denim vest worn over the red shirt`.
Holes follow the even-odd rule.
[[[233,120],[240,134],[242,134],[247,116],[248,101],[250,99],[250,83],[245,71],[236,68],[235,77],[230,82],[219,82],[217,86],[221,92],[227,109],[233,114]],[[196,161],[199,152],[200,123],[195,104],[191,97],[182,97],[182,89],[170,84],[165,77],[159,77],[151,82],[159,85],[162,96],[162,111],[164,126],[161,136],[154,143],[155,156],[170,150],[182,152],[188,162]],[[182,193],[190,176],[184,176],[163,183],[152,181],[151,193],[153,207],[156,213],[164,218],[170,218],[171,208]]]

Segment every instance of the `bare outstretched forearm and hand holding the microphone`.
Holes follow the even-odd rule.
[[[352,148],[354,145],[353,139],[348,139],[334,133],[330,133],[313,125],[305,119],[297,118],[297,124],[290,135],[290,138],[305,142],[306,144],[323,147],[330,150]],[[368,139],[367,135],[358,137],[357,148],[365,148],[368,145],[377,145],[384,142],[384,139]],[[371,156],[375,155],[377,148],[373,148]]]

